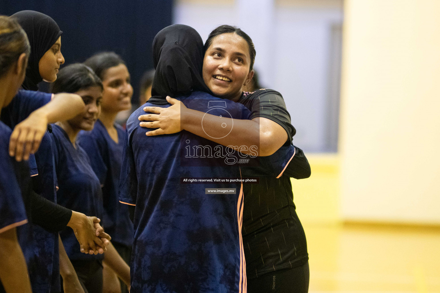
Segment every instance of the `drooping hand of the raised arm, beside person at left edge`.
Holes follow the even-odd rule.
[[[48,117],[43,111],[35,110],[18,123],[9,140],[9,155],[15,160],[27,160],[40,147],[41,139],[48,129]]]

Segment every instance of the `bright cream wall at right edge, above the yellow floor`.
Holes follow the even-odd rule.
[[[341,212],[440,223],[440,1],[346,0]]]

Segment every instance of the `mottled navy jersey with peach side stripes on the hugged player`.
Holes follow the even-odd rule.
[[[221,100],[232,118],[249,117],[241,104],[204,92],[177,99],[188,108],[217,116],[224,110],[209,109],[209,102]],[[127,121],[119,198],[136,205],[131,292],[246,292],[242,184],[180,184],[180,177],[239,177],[238,165],[215,165],[212,160],[211,167],[182,164],[186,143],[220,151],[224,147],[186,131],[146,136],[138,120],[145,114],[144,106],[170,105],[146,103]],[[193,163],[199,159],[189,158]],[[205,188],[235,188],[236,193],[205,194]]]

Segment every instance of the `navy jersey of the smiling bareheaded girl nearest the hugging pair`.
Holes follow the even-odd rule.
[[[115,124],[114,127],[117,130],[117,143],[100,120],[96,121],[92,131],[81,131],[77,142],[88,154],[103,189],[103,221],[106,223],[106,233],[110,234],[112,242],[131,247],[133,223],[128,206],[118,200],[122,153],[127,143],[127,132],[119,125]]]

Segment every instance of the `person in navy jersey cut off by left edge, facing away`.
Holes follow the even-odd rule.
[[[0,16],[0,109],[11,103],[24,80],[29,51],[26,33],[18,23]],[[29,177],[29,167],[9,156],[10,136],[11,128],[0,122],[0,292],[31,293],[26,260],[17,237],[17,227],[28,222],[20,188],[23,186],[17,175],[24,173]]]

